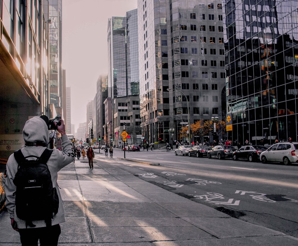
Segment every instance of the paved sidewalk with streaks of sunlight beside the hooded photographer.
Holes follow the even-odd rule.
[[[93,169],[80,159],[59,172],[66,212],[61,246],[298,245],[297,238],[232,218],[96,157]],[[0,246],[20,245],[7,212],[0,228]]]

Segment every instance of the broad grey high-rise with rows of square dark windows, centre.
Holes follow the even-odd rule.
[[[222,118],[222,1],[138,0],[140,116],[149,142],[203,141],[182,133]],[[225,99],[225,98],[224,98]],[[208,137],[208,136],[207,136]]]

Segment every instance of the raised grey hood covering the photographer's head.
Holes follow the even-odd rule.
[[[45,120],[35,116],[27,120],[23,129],[25,143],[49,142],[49,130]]]

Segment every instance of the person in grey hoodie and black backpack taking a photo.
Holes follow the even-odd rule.
[[[72,142],[66,135],[64,122],[60,118],[59,121],[60,125],[57,125],[57,122],[54,122],[54,125],[61,134],[63,151],[47,148],[49,128],[52,129],[52,124],[49,124],[49,118],[45,115],[35,116],[25,123],[24,147],[10,155],[7,161],[4,188],[7,198],[6,208],[13,229],[20,234],[22,245],[38,245],[38,240],[41,245],[58,245],[61,233],[59,224],[65,222],[57,172],[72,163],[75,153]],[[32,165],[27,163],[35,163],[35,171]],[[30,178],[33,175],[34,181],[40,182],[45,189],[41,192],[40,189],[24,182],[23,180],[27,178],[25,173],[29,173]],[[41,175],[47,179],[40,178]],[[25,189],[29,187],[31,189]],[[51,193],[52,196],[49,196]]]

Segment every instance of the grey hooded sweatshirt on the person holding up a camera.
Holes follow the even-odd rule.
[[[44,143],[44,145],[46,145],[49,142],[49,130],[46,122],[42,118],[37,116],[31,118],[30,120],[27,120],[23,130],[23,137],[25,143]],[[58,213],[52,219],[52,225],[57,225],[59,223],[65,222],[63,202],[57,184],[57,173],[61,168],[65,167],[69,163],[72,163],[75,158],[75,154],[72,149],[72,143],[68,139],[67,135],[61,136],[61,140],[63,151],[54,149],[48,162],[46,163],[51,173],[53,186],[56,187],[59,197],[59,209]],[[45,148],[46,147],[43,146],[24,146],[24,148],[22,148],[22,153],[24,157],[27,157],[29,155],[40,157]],[[35,157],[28,157],[27,159],[36,160]],[[8,212],[10,213],[10,218],[14,219],[17,223],[18,228],[22,229],[26,228],[26,222],[19,219],[15,213],[15,196],[13,195],[13,193],[16,191],[16,186],[13,183],[13,179],[17,172],[17,168],[18,163],[16,162],[15,157],[12,154],[8,158],[6,165],[7,179],[5,181],[4,190],[7,200],[5,205]],[[46,226],[44,220],[33,220],[32,222],[34,225],[36,225],[35,228]],[[28,226],[28,228],[30,227]]]

